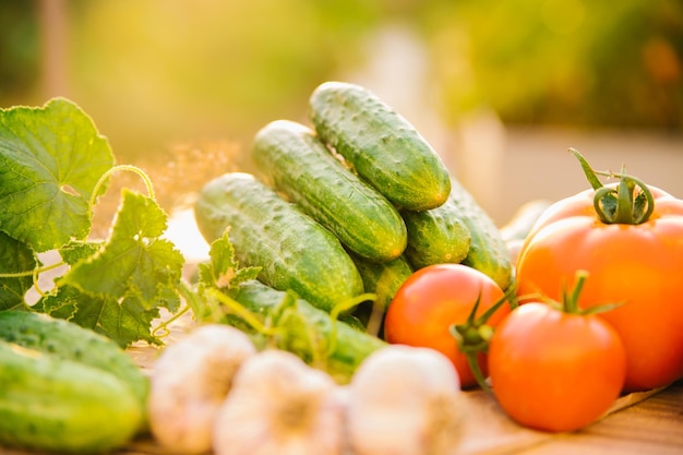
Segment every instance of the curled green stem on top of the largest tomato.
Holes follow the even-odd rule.
[[[649,219],[655,211],[655,199],[645,182],[625,173],[624,167],[619,173],[596,171],[577,149],[570,148],[570,153],[578,159],[586,179],[596,190],[594,208],[602,223],[639,225]],[[619,178],[619,184],[604,187],[598,176]]]

